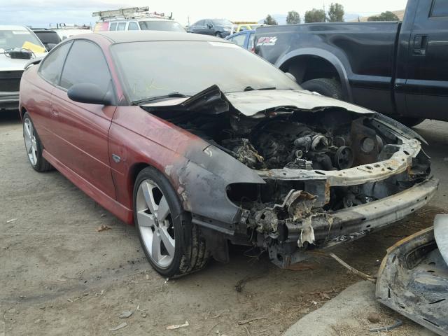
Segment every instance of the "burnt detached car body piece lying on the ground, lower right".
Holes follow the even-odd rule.
[[[448,335],[448,215],[387,250],[377,277],[382,304],[436,332]]]

